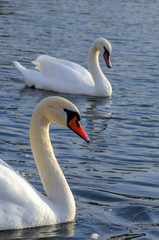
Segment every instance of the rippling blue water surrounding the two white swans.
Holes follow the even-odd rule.
[[[159,1],[28,0],[0,2],[0,158],[40,192],[29,143],[35,105],[60,95],[79,108],[91,138],[51,125],[55,154],[73,191],[75,223],[5,231],[0,239],[159,239]],[[87,68],[97,37],[112,44],[112,69],[100,64],[111,98],[26,88],[13,66],[39,54]],[[71,150],[70,150],[71,149]]]

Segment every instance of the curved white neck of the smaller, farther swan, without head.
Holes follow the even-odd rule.
[[[97,49],[96,43],[93,43],[88,53],[89,71],[95,83],[96,95],[110,96],[112,94],[112,87],[100,68],[99,53],[100,51]]]

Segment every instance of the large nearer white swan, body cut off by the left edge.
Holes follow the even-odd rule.
[[[72,221],[75,201],[49,139],[49,124],[68,127],[86,141],[79,111],[61,97],[48,97],[36,107],[30,124],[30,141],[47,197],[0,160],[0,230],[21,229]]]

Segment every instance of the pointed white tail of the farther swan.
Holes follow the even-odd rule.
[[[27,69],[24,66],[22,66],[19,62],[14,61],[15,67],[19,70],[19,72],[22,74],[23,80],[28,87],[35,88],[37,85],[37,72]]]

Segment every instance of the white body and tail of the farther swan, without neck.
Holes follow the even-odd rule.
[[[91,94],[94,88],[91,74],[73,62],[42,55],[34,61],[38,71],[14,64],[29,87],[75,94]]]

